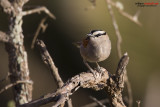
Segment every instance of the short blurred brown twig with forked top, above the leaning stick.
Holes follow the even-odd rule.
[[[46,28],[47,28],[47,26],[48,26],[48,24],[44,24],[44,22],[46,21],[46,19],[47,19],[47,17],[43,18],[43,19],[41,20],[41,22],[39,23],[39,26],[38,26],[38,28],[37,28],[37,30],[36,30],[36,32],[35,32],[35,35],[34,35],[34,37],[33,37],[33,40],[32,40],[32,44],[31,44],[31,48],[32,48],[32,49],[34,48],[34,44],[35,44],[36,39],[37,39],[37,37],[38,37],[38,35],[39,35],[39,33],[40,33],[40,30],[42,29],[42,32],[45,32],[45,30],[46,30]]]

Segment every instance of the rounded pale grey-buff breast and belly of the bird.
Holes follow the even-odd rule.
[[[85,43],[85,42],[84,42]],[[81,45],[81,56],[88,62],[100,62],[108,58],[111,50],[109,38],[91,38],[86,41],[86,44]]]

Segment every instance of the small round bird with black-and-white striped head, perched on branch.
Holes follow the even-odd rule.
[[[92,30],[85,39],[77,42],[77,44],[83,61],[91,72],[93,69],[87,62],[96,63],[97,68],[100,70],[98,62],[107,59],[111,52],[111,42],[107,33],[103,30]]]

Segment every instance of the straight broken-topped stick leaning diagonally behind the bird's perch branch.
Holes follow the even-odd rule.
[[[47,51],[47,48],[46,48],[44,42],[41,40],[37,40],[36,45],[38,46],[38,48],[41,52],[43,62],[50,68],[52,76],[55,79],[55,81],[57,82],[58,88],[62,87],[64,83],[58,73],[58,68],[55,66],[53,59],[51,58],[49,52]],[[69,107],[72,107],[71,99],[68,100],[67,103],[68,103]]]

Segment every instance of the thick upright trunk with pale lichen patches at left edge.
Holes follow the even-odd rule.
[[[0,41],[5,42],[6,51],[8,52],[11,84],[15,84],[17,81],[30,81],[27,52],[23,45],[24,35],[22,33],[22,8],[27,2],[28,0],[12,0],[12,2],[0,0],[3,11],[9,17],[8,35],[1,32]],[[16,105],[32,100],[32,84],[21,83],[13,86]]]

